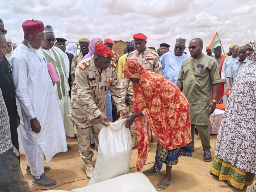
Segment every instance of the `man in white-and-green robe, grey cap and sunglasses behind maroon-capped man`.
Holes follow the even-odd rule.
[[[52,62],[52,65],[60,79],[60,81],[56,82],[54,85],[55,93],[59,102],[66,135],[73,137],[74,125],[68,116],[68,110],[70,109],[70,98],[68,93],[70,90],[68,84],[69,59],[65,52],[54,46],[55,40],[52,27],[47,25],[45,27],[45,41],[40,49],[40,53],[47,63]],[[68,146],[68,150],[70,149],[71,147]]]

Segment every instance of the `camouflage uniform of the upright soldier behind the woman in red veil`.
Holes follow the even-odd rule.
[[[158,54],[155,51],[151,51],[148,48],[145,49],[142,53],[138,52],[137,50],[132,51],[126,56],[125,62],[129,60],[136,60],[142,66],[144,66],[147,70],[156,72],[162,75],[162,65],[160,63],[160,59]],[[129,92],[128,92],[129,88]],[[133,88],[132,82],[130,79],[126,79],[123,76],[123,94],[127,94],[129,97],[130,105],[129,105],[129,112],[133,112]],[[131,134],[136,133],[135,123],[131,126]]]

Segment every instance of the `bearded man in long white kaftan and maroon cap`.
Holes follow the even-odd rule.
[[[50,170],[44,169],[44,156],[49,163],[56,153],[67,151],[65,130],[46,62],[38,51],[45,39],[44,24],[26,20],[22,27],[24,40],[10,58],[24,123],[20,136],[32,184],[53,186],[56,181],[44,175]]]

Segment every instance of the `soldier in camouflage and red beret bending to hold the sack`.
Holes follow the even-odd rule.
[[[106,114],[106,93],[110,90],[116,108],[122,117],[128,115],[118,79],[116,65],[112,62],[113,52],[103,44],[94,47],[93,56],[80,61],[75,70],[75,80],[71,91],[71,108],[69,117],[77,128],[78,147],[85,163],[88,178],[93,174],[90,147],[91,126],[96,151],[98,151],[98,134],[102,126],[109,124]]]

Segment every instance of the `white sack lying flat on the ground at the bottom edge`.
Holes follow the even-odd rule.
[[[130,173],[96,183],[71,192],[156,192],[155,187],[143,173]]]

